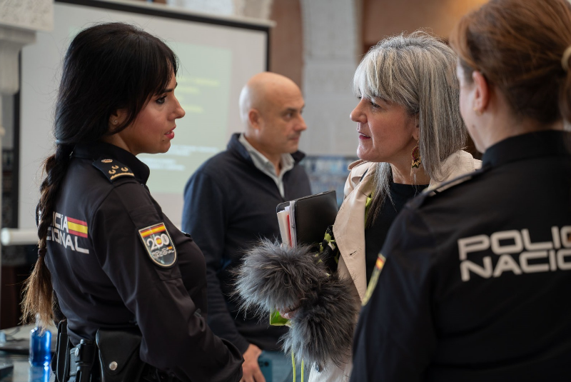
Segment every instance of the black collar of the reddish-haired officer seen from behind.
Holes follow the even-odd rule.
[[[482,156],[482,166],[501,166],[513,161],[543,156],[570,157],[571,133],[536,131],[512,136],[490,146]]]

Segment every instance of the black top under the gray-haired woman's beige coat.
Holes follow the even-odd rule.
[[[380,248],[383,248],[390,225],[393,224],[405,203],[427,187],[428,184],[390,184],[390,199],[386,198],[377,220],[373,222],[372,226],[365,229],[365,269],[367,271],[367,281],[370,280],[370,275],[373,273]]]

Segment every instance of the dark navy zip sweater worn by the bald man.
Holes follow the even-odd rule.
[[[285,198],[270,176],[253,164],[234,134],[228,148],[206,161],[191,176],[184,191],[183,231],[192,234],[206,258],[208,325],[216,335],[231,341],[243,353],[250,343],[263,350],[278,350],[288,331],[269,326],[252,312],[238,312],[231,296],[233,276],[244,249],[259,238],[279,238],[276,206],[311,193],[307,174],[292,154],[293,169],[283,175]]]

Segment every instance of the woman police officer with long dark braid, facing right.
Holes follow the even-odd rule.
[[[128,24],[92,26],[71,41],[56,104],[56,153],[44,162],[39,258],[24,316],[52,319],[53,285],[72,346],[93,341],[98,329],[138,326],[141,359],[161,371],[148,366],[151,377],[238,381],[241,354],[204,318],[202,253],[161,212],[145,185],[148,167],[136,158],[171,145],[184,116],[174,96],[176,70],[163,41]],[[80,357],[81,349],[71,354]],[[121,367],[101,364],[97,373]]]

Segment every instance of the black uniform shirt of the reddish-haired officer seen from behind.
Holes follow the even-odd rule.
[[[405,206],[360,314],[351,381],[570,380],[570,139],[505,139],[480,171]]]

